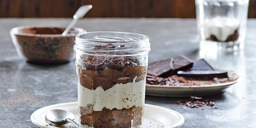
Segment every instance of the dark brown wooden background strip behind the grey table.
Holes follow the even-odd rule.
[[[195,18],[194,0],[0,0],[0,17],[72,17],[86,4],[93,5],[86,17]],[[256,18],[256,0],[248,17]]]

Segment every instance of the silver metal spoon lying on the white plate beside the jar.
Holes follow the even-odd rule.
[[[72,123],[74,126],[79,128],[79,125],[75,121],[73,121],[75,118],[74,114],[66,110],[50,110],[47,112],[46,118],[55,125],[65,125],[67,123]]]

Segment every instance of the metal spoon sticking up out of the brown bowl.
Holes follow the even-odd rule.
[[[67,33],[69,32],[69,30],[71,28],[74,27],[74,25],[77,23],[77,21],[81,18],[83,18],[83,16],[85,16],[85,14],[92,9],[92,5],[83,5],[81,6],[76,13],[73,16],[73,20],[69,23],[69,25],[67,26],[67,28],[65,29],[65,31],[62,33],[62,36],[66,36]]]

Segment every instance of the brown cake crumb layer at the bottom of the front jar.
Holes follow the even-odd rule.
[[[93,111],[80,106],[79,109],[81,125],[93,128],[131,128],[142,125],[143,107],[131,106],[121,110],[104,107],[102,111]]]

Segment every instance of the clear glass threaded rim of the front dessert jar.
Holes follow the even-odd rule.
[[[94,31],[76,35],[74,50],[95,56],[134,56],[148,54],[149,36],[119,31]]]

